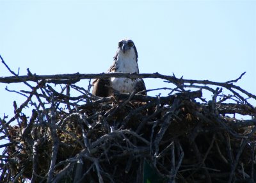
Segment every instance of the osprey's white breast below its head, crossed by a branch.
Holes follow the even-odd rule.
[[[117,58],[117,69],[115,72],[139,73],[136,55],[133,49],[125,52],[120,51]],[[112,87],[120,93],[131,93],[138,82],[138,79],[125,77],[111,77]]]

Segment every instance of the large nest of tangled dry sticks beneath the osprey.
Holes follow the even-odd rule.
[[[157,73],[115,75],[165,79],[175,86],[163,88],[170,90],[166,97],[114,93],[99,98],[90,95],[90,86],[74,84],[109,76],[41,80],[29,72],[1,78],[31,88],[19,92],[26,100],[19,107],[13,103],[13,117],[0,119],[1,141],[8,140],[1,143],[1,182],[255,181],[256,109],[250,102],[255,104],[256,96],[234,85],[241,77],[215,83]],[[50,83],[60,84],[61,91]],[[205,91],[212,92],[211,100],[204,99]],[[28,106],[30,116],[23,113]],[[145,162],[155,177],[147,177]]]

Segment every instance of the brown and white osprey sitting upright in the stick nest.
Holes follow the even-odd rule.
[[[139,74],[138,52],[132,40],[124,39],[118,42],[118,49],[114,56],[114,63],[108,73],[126,72]],[[95,79],[93,81],[92,94],[99,97],[109,97],[113,91],[120,93],[138,93],[146,90],[143,79],[129,79],[126,77],[111,77],[107,79]],[[147,92],[141,94],[147,95]]]

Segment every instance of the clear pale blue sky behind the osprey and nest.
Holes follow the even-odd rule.
[[[256,1],[0,0],[0,54],[20,75],[106,72],[122,38],[136,44],[141,73],[225,82],[246,71],[237,84],[256,94]],[[11,76],[1,63],[0,76]],[[1,118],[25,100],[6,86],[24,89],[0,83]]]

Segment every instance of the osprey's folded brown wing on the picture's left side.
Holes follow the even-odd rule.
[[[111,79],[95,79],[93,81],[92,94],[98,97],[109,97],[111,95]]]

